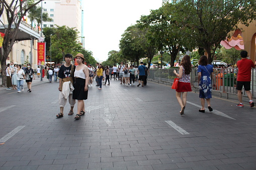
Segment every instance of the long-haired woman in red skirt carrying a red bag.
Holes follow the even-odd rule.
[[[181,105],[181,111],[180,114],[184,114],[184,110],[187,103],[187,94],[189,91],[192,91],[191,89],[191,83],[190,83],[190,72],[192,70],[192,65],[190,61],[190,57],[188,55],[185,55],[182,58],[180,68],[179,68],[179,74],[174,70],[174,74],[179,77],[178,82],[178,88],[176,89],[176,98]],[[181,98],[182,96],[182,98]]]

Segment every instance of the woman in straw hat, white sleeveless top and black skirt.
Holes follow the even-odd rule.
[[[84,110],[84,101],[88,98],[88,82],[89,82],[89,69],[84,65],[83,54],[78,53],[75,56],[77,66],[74,71],[75,83],[73,91],[73,99],[77,100],[77,113],[74,119],[79,120],[81,115],[86,112]]]

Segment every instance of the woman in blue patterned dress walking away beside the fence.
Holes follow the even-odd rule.
[[[206,56],[201,56],[198,66],[198,84],[199,84],[199,97],[201,98],[202,108],[199,112],[205,112],[205,99],[208,104],[209,111],[212,111],[210,98],[212,98],[212,86],[215,87],[215,77],[212,65],[208,64]],[[213,81],[211,81],[211,78]],[[212,85],[213,82],[213,85]]]

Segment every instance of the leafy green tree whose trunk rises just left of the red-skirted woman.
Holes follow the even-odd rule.
[[[185,52],[185,49],[190,47],[186,41],[189,36],[186,38],[183,34],[186,25],[177,23],[172,16],[173,14],[166,10],[173,8],[172,4],[167,4],[166,7],[152,10],[148,16],[141,16],[140,21],[137,21],[142,27],[149,28],[155,42],[157,42],[157,49],[170,55],[170,66],[174,66],[176,57],[180,52]]]

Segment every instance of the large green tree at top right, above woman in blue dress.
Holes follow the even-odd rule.
[[[211,63],[220,42],[230,31],[237,29],[238,23],[248,26],[256,19],[255,4],[255,0],[181,0],[174,5],[175,8],[166,8],[166,11],[177,23],[186,23],[187,29],[181,35],[191,36],[187,41],[204,48]]]

